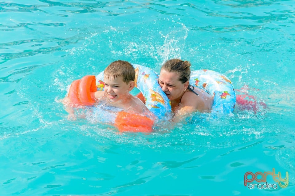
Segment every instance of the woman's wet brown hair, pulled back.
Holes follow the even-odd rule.
[[[164,63],[161,70],[166,70],[167,72],[179,73],[179,81],[185,83],[190,80],[191,77],[191,63],[188,61],[183,61],[178,58],[170,59]]]

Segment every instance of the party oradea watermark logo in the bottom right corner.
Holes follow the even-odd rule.
[[[268,177],[269,176],[269,177]],[[265,171],[261,172],[258,171],[255,174],[251,171],[248,171],[244,175],[244,185],[247,186],[249,189],[277,189],[278,185],[276,183],[269,184],[266,180],[273,179],[273,181],[277,182],[277,184],[285,188],[288,186],[288,171],[286,171],[285,178],[282,178],[281,172],[279,171],[277,174],[275,169],[273,171]],[[254,181],[258,182],[258,184],[253,183]],[[260,183],[263,182],[263,183]]]

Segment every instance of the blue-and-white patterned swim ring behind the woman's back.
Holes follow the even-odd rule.
[[[195,70],[191,72],[190,84],[214,95],[211,112],[227,114],[234,110],[236,94],[225,75],[211,70]]]

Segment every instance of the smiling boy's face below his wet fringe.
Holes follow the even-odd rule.
[[[133,82],[134,83],[134,82]],[[104,78],[104,92],[108,94],[108,98],[112,102],[123,100],[130,96],[129,91],[133,89],[132,81],[126,84],[123,77]]]

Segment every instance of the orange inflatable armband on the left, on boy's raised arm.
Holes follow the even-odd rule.
[[[74,107],[91,106],[95,103],[94,92],[97,91],[95,76],[84,76],[72,82],[68,98]]]

